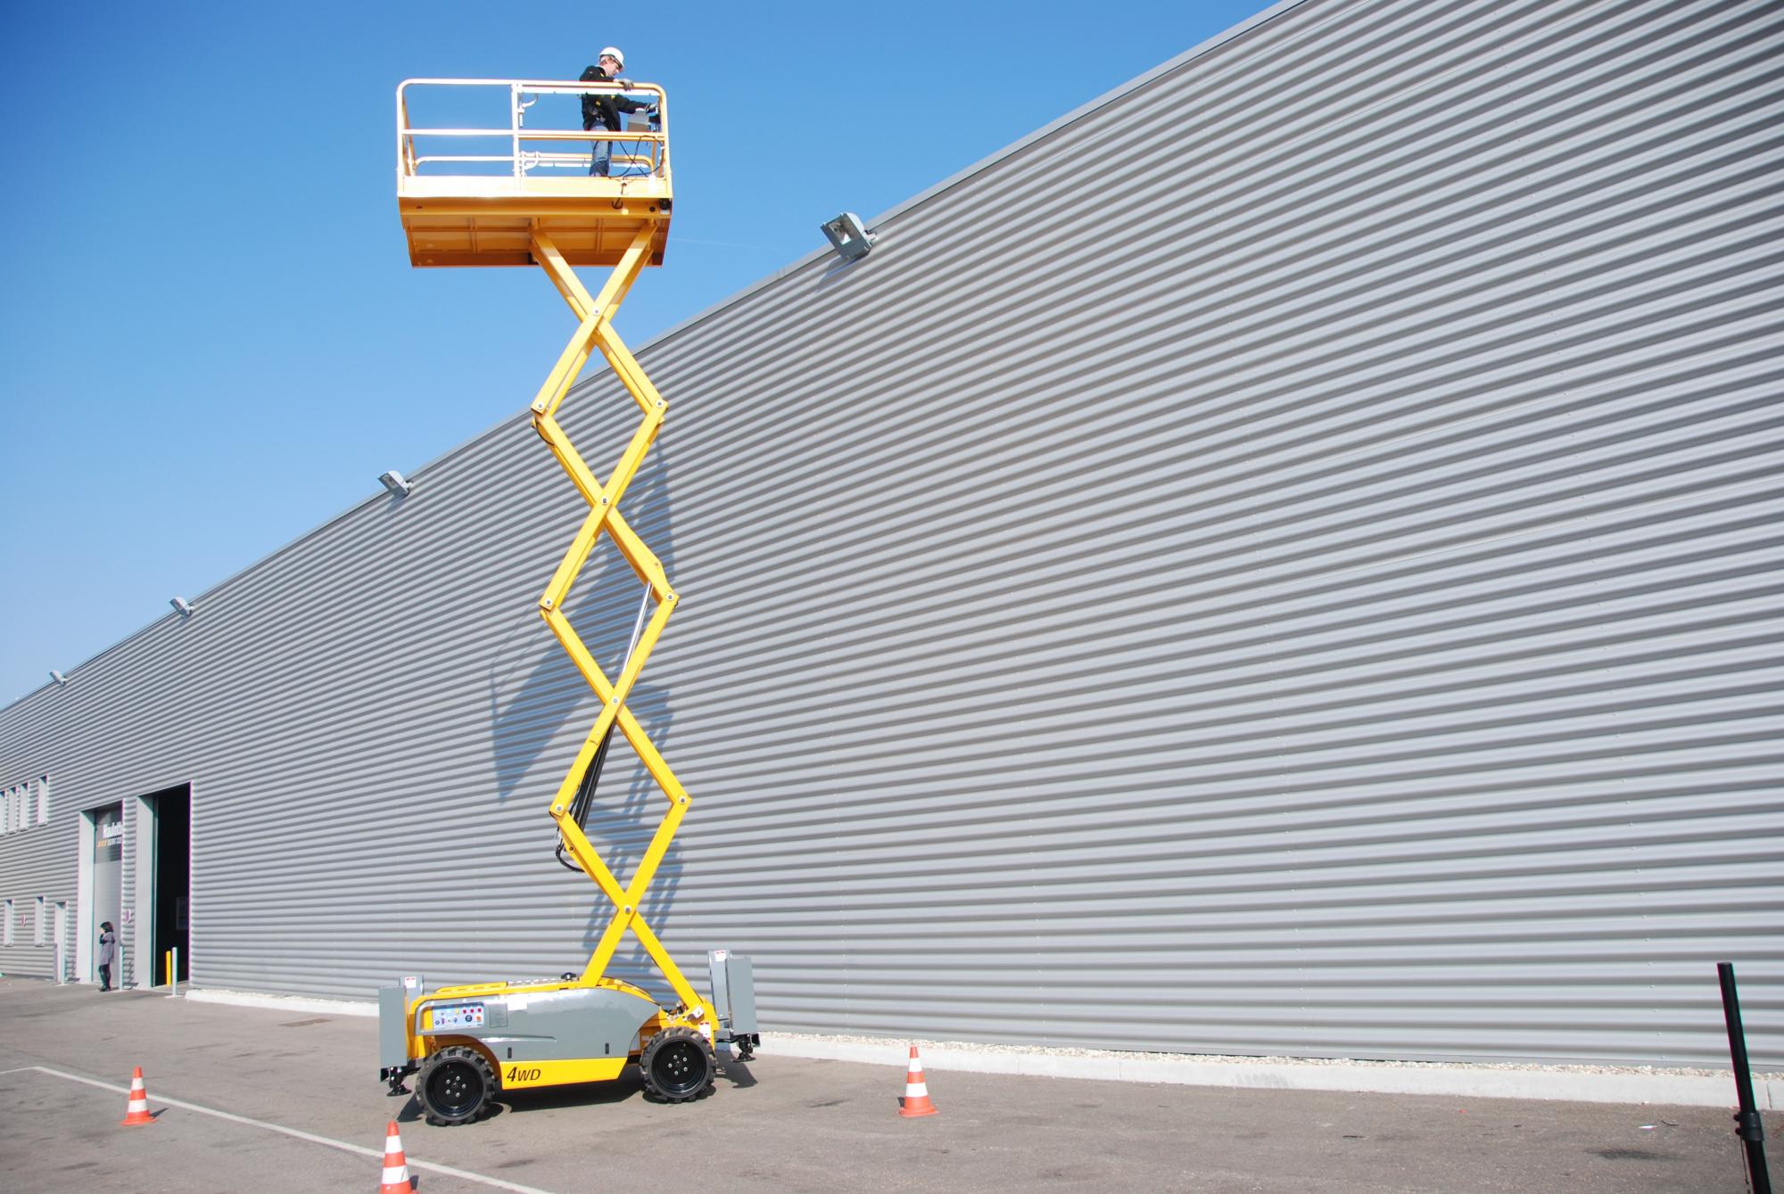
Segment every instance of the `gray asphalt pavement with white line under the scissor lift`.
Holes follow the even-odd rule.
[[[127,1128],[136,1066],[155,1123]],[[901,1062],[758,1053],[690,1105],[628,1071],[432,1128],[378,1082],[375,1019],[0,978],[0,1190],[371,1194],[389,1119],[425,1194],[1747,1189],[1720,1108],[926,1078],[940,1114],[904,1119]]]

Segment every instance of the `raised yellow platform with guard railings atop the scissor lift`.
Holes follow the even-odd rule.
[[[434,91],[455,98],[458,109],[464,96],[482,98],[473,116],[482,123],[412,125],[410,94]],[[583,132],[578,100],[589,93],[648,102],[657,116],[644,128]],[[507,100],[503,123],[491,100]],[[557,107],[535,112],[541,102]],[[651,230],[648,264],[662,266],[674,205],[662,87],[410,78],[396,91],[396,203],[412,266],[535,266],[541,233],[569,266],[617,266],[644,228]],[[598,143],[612,146],[610,176],[587,173]]]

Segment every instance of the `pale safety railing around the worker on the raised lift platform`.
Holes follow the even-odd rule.
[[[414,89],[483,89],[458,91],[444,96],[439,105],[448,116],[473,109],[471,119],[489,123],[417,128],[410,123],[409,94]],[[507,94],[507,123],[498,125],[494,102]],[[482,103],[483,94],[489,103]],[[469,103],[466,98],[469,96]],[[558,103],[549,100],[567,96]],[[582,128],[582,96],[614,96],[648,107],[642,127],[621,119],[626,128]],[[430,96],[432,100],[434,96]],[[571,100],[576,100],[571,103]],[[639,114],[644,114],[642,110]],[[528,128],[528,118],[533,127]],[[551,125],[564,127],[551,127]],[[505,153],[466,151],[487,144]],[[396,89],[396,175],[403,178],[434,176],[514,176],[528,178],[533,171],[587,173],[598,150],[608,148],[608,176],[614,178],[667,178],[669,176],[669,105],[664,89],[655,84],[626,82],[539,82],[516,78],[405,78]]]

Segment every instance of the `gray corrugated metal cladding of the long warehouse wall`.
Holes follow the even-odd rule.
[[[749,953],[778,1030],[1714,1064],[1734,961],[1784,1064],[1780,48],[1279,5],[644,348],[689,973]],[[605,476],[630,401],[566,413]],[[70,814],[193,782],[200,984],[599,936],[533,613],[580,499],[521,421],[416,481],[0,715]],[[603,549],[608,667],[635,601]],[[624,875],[662,798],[607,773]]]

